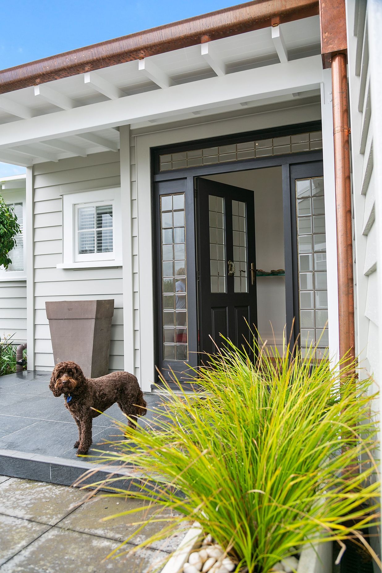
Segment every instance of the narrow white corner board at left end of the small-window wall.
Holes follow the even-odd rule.
[[[28,370],[34,370],[34,260],[33,260],[33,167],[26,168],[26,344],[28,354]]]

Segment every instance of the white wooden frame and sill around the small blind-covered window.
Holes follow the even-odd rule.
[[[78,209],[90,205],[112,205],[113,250],[109,253],[78,253]],[[86,269],[106,266],[122,266],[120,187],[63,195],[63,263],[57,265],[57,268]]]

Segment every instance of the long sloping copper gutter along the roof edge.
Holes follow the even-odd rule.
[[[318,0],[257,0],[0,71],[0,93],[318,14]]]

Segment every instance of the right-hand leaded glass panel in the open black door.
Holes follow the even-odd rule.
[[[235,292],[248,292],[247,277],[247,212],[245,203],[232,201],[233,278]]]

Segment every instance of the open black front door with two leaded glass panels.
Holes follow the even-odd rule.
[[[203,178],[196,189],[199,350],[213,354],[223,336],[250,351],[257,324],[254,192]]]

